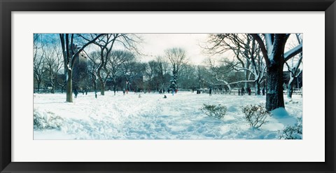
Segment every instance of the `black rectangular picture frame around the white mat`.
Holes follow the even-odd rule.
[[[1,172],[335,172],[335,0],[0,0]],[[325,11],[325,162],[12,162],[12,11]],[[323,115],[315,115],[323,116]],[[312,148],[314,149],[314,148]]]

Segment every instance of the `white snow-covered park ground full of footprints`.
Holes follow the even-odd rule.
[[[302,97],[285,97],[288,115],[276,113],[259,129],[251,128],[241,106],[265,104],[265,96],[212,95],[178,92],[176,95],[107,91],[78,94],[73,103],[64,94],[34,94],[34,115],[43,130],[34,139],[277,139],[286,125],[302,117]],[[222,119],[205,115],[203,104],[228,107]],[[280,110],[281,112],[281,110]]]

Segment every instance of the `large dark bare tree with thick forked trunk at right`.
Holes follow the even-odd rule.
[[[267,66],[266,109],[271,111],[285,107],[283,102],[283,64],[298,53],[302,53],[302,43],[284,52],[290,34],[251,34],[258,42]]]

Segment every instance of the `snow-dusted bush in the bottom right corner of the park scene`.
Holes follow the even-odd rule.
[[[297,118],[294,126],[287,125],[279,135],[279,139],[302,139],[302,118]]]

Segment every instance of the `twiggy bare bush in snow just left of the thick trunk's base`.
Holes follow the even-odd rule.
[[[244,106],[242,111],[245,113],[247,123],[256,129],[267,123],[266,118],[267,116],[270,116],[269,111],[267,111],[261,104]]]

